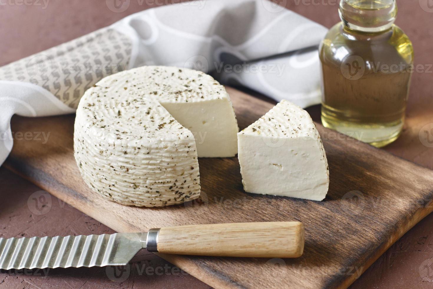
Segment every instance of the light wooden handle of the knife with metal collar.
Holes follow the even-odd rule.
[[[227,257],[300,257],[304,251],[301,222],[190,225],[152,229],[149,251]]]

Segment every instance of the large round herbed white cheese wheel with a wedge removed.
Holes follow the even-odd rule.
[[[74,156],[87,185],[112,201],[174,205],[200,195],[197,156],[235,156],[237,132],[229,96],[212,77],[143,66],[86,91]]]

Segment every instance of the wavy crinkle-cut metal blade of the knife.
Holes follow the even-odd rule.
[[[126,265],[146,247],[147,233],[0,238],[0,269]]]

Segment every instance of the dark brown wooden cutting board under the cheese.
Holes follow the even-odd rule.
[[[275,103],[228,88],[243,129]],[[236,157],[199,159],[201,197],[165,208],[136,208],[90,191],[73,156],[74,115],[14,117],[16,140],[5,166],[119,232],[153,227],[252,221],[301,221],[297,259],[161,255],[216,288],[347,287],[398,238],[433,211],[433,171],[317,125],[330,168],[324,201],[248,194]]]

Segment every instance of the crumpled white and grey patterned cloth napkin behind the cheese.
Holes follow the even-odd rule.
[[[194,68],[301,107],[320,102],[327,29],[268,0],[195,0],[132,14],[0,68],[0,164],[10,119],[73,113],[101,78],[142,65]]]

